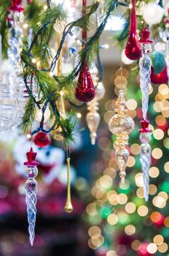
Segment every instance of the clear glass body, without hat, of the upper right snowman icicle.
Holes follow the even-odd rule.
[[[143,55],[139,61],[140,67],[140,84],[142,93],[142,111],[143,117],[146,119],[146,113],[149,105],[149,86],[152,61],[149,58],[149,53],[152,51],[152,46],[149,44],[142,44]]]

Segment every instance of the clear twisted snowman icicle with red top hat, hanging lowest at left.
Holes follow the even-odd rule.
[[[37,153],[33,151],[33,148],[27,152],[27,162],[24,162],[26,165],[26,175],[28,176],[27,181],[25,181],[25,203],[27,206],[28,214],[28,233],[31,246],[34,244],[35,238],[35,222],[36,222],[36,203],[37,203],[37,181],[35,180],[38,169],[37,165],[39,162],[36,161]]]

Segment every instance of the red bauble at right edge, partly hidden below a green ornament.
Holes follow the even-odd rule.
[[[154,84],[160,84],[160,83],[168,83],[168,69],[165,65],[165,68],[160,72],[159,74],[154,73],[154,69],[152,67],[152,72],[150,75],[151,82]]]

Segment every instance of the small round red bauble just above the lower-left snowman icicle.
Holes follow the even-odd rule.
[[[50,146],[50,135],[48,135],[46,132],[38,132],[34,136],[34,143],[36,146],[39,146],[39,148],[43,148],[44,146]]]

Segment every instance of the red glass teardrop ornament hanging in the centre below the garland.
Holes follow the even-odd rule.
[[[86,61],[84,61],[84,65],[79,72],[74,94],[76,99],[79,99],[80,102],[90,102],[90,100],[95,97],[95,86],[93,85],[93,80]]]

